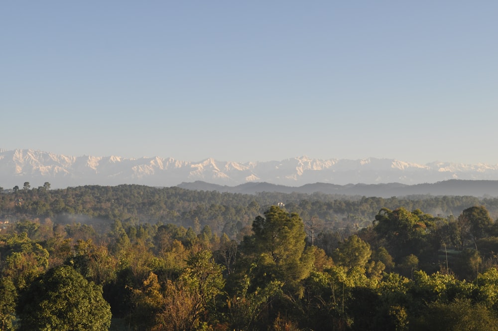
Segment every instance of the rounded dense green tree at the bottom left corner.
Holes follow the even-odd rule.
[[[104,331],[111,326],[102,287],[70,266],[52,268],[31,283],[17,313],[19,330]]]

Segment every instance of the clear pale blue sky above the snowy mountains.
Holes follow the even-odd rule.
[[[498,164],[498,1],[1,1],[0,148]]]

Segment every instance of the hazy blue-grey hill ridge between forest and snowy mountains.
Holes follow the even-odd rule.
[[[190,190],[219,191],[229,193],[254,194],[259,192],[281,193],[326,193],[358,196],[409,196],[409,195],[470,195],[477,197],[498,196],[498,180],[460,180],[450,179],[437,183],[407,185],[401,183],[387,184],[348,184],[328,183],[305,184],[302,186],[284,186],[265,182],[246,183],[237,186],[222,186],[204,181],[184,182],[178,185]]]

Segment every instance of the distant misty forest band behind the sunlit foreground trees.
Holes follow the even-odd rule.
[[[381,208],[400,206],[446,217],[482,205],[493,218],[498,217],[498,198],[474,196],[380,198],[324,193],[240,194],[143,185],[86,185],[51,190],[49,183],[30,188],[26,182],[22,188],[0,194],[0,220],[28,217],[51,218],[57,223],[163,222],[190,226],[198,231],[209,225],[218,234],[236,238],[268,206],[277,204],[285,205],[305,221],[318,218],[323,221],[324,229],[331,230],[367,227]]]

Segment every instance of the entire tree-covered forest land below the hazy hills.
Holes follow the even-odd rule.
[[[497,212],[26,182],[0,194],[0,330],[497,330]]]

